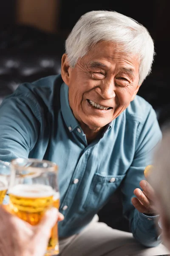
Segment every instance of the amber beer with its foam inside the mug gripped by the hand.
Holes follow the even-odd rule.
[[[9,198],[10,212],[31,225],[38,224],[47,209],[59,209],[59,192],[45,184],[17,184],[9,190]],[[59,253],[57,223],[51,230],[46,256],[48,250]]]

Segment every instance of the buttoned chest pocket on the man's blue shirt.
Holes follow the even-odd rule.
[[[86,211],[101,209],[119,187],[124,177],[125,175],[102,176],[95,173],[83,208]]]

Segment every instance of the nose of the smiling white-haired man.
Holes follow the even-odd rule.
[[[96,87],[95,90],[103,99],[113,99],[116,96],[115,84],[113,79],[108,81],[107,83],[100,85],[99,87]]]

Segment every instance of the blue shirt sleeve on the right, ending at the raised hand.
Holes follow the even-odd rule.
[[[123,213],[130,222],[130,230],[134,238],[146,247],[154,247],[161,242],[156,229],[156,218],[138,212],[133,207],[131,199],[135,196],[134,189],[140,188],[139,182],[145,179],[144,168],[153,163],[153,154],[161,137],[156,113],[151,108],[145,122],[139,124],[133,162],[122,183]]]

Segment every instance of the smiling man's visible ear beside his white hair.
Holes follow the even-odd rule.
[[[62,80],[69,86],[70,82],[70,65],[68,63],[68,55],[64,53],[61,60],[61,76]]]

